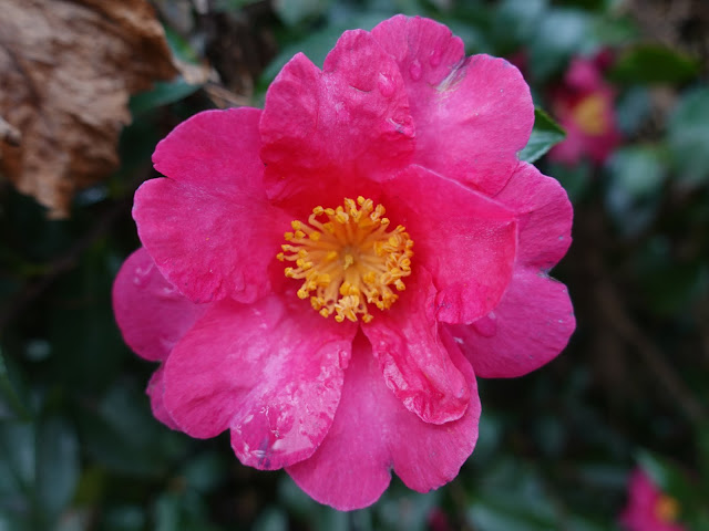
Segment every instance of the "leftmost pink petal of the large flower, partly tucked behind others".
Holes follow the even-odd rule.
[[[205,310],[167,282],[143,248],[123,262],[113,283],[113,313],[123,340],[145,360],[167,357]]]

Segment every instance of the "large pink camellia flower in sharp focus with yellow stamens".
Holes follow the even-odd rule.
[[[452,480],[475,376],[533,371],[575,326],[546,275],[571,205],[517,159],[533,119],[514,66],[399,15],[346,32],[322,70],[296,55],[263,111],[177,126],[113,292],[125,341],[162,362],[155,416],[229,429],[244,465],[338,509],[392,469],[418,491]]]

